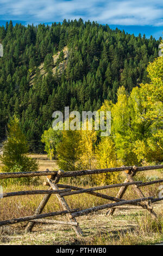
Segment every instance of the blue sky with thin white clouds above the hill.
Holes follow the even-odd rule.
[[[64,19],[97,21],[135,35],[163,32],[162,0],[0,0],[0,25],[12,20],[24,25]]]

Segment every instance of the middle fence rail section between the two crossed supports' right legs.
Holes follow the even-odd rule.
[[[91,187],[91,188],[86,188],[80,191],[72,191],[72,192],[63,192],[60,194],[61,197],[65,196],[70,196],[73,194],[81,194],[81,193],[86,193],[86,192],[92,192],[96,190],[106,190],[108,188],[113,188],[113,187],[122,187],[122,186],[130,186],[134,184],[140,184],[142,181],[133,181],[133,182],[128,182],[128,183],[121,183],[121,184],[113,184],[113,185],[107,185],[107,186],[101,186],[101,187]]]

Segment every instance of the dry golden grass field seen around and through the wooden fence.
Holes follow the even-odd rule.
[[[40,170],[57,169],[57,161],[49,161],[46,155],[32,155],[39,161]],[[1,168],[1,167],[0,167]],[[121,179],[124,180],[122,174]],[[139,180],[163,178],[160,170],[153,170],[139,174]],[[45,177],[35,179],[32,184],[12,184],[4,187],[4,192],[22,190],[45,190],[42,181]],[[61,180],[62,181],[62,180]],[[61,182],[60,181],[60,182]],[[62,181],[70,184],[70,178]],[[76,184],[78,181],[74,181]],[[76,184],[77,185],[77,184]],[[82,185],[78,185],[81,186]],[[89,185],[85,187],[90,187]],[[158,197],[159,185],[142,187],[145,196]],[[101,191],[102,193],[116,196],[118,188]],[[22,197],[10,197],[0,199],[0,220],[33,215],[39,205],[42,195]],[[125,199],[138,198],[130,187]],[[91,196],[90,194],[78,194],[66,197],[70,208],[90,208],[92,206],[108,203],[108,200]],[[77,238],[71,227],[64,225],[36,224],[32,233],[25,234],[27,223],[6,225],[0,228],[0,245],[149,245],[163,241],[163,202],[154,204],[154,210],[158,214],[158,220],[153,219],[146,210],[138,206],[120,206],[114,216],[106,216],[106,210],[91,213],[77,218],[84,236]],[[53,194],[43,212],[62,210],[57,197]],[[66,216],[51,217],[53,220],[66,220]]]

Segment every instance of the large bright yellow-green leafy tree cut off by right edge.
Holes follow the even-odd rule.
[[[163,59],[149,63],[148,76],[151,82],[141,84],[131,93],[135,99],[134,111],[137,123],[142,127],[143,137],[137,139],[134,152],[140,161],[159,163],[163,159]]]

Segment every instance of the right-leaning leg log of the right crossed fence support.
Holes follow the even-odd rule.
[[[131,177],[131,175],[130,174],[127,174],[126,173],[126,176],[127,176],[127,178],[128,178],[128,180],[130,181],[130,182],[133,182],[134,181],[134,179],[133,179],[133,177]],[[137,195],[139,196],[139,197],[145,197],[145,195],[142,193],[142,191],[140,190],[140,188],[135,184],[135,185],[133,185],[133,187],[134,187],[134,190],[135,190],[135,192],[137,193]],[[157,218],[157,215],[155,214],[155,212],[154,212],[154,210],[153,210],[153,207],[152,207],[152,204],[151,204],[151,202],[143,202],[142,203],[142,207],[144,208],[144,209],[147,209],[149,212],[151,212],[151,214],[155,217],[155,218]]]

